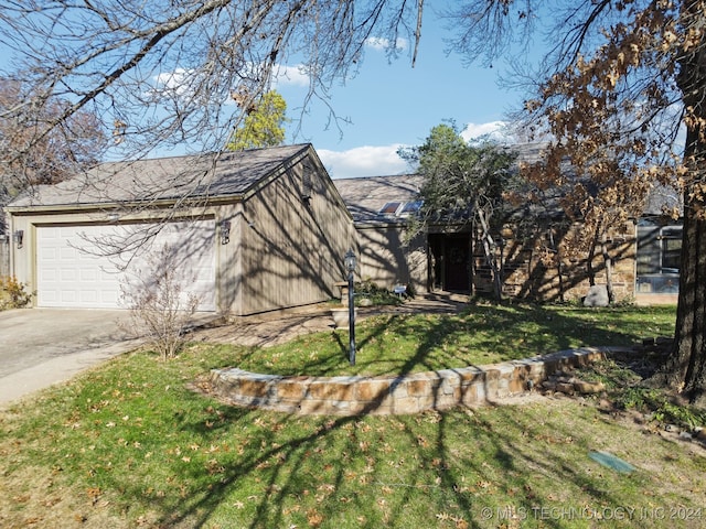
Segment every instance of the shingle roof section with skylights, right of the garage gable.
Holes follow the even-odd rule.
[[[333,184],[356,224],[397,224],[404,223],[405,218],[395,214],[383,214],[381,210],[392,202],[403,204],[417,201],[421,182],[421,175],[398,174],[339,179],[334,180]]]

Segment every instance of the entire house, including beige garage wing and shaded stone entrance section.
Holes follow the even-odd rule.
[[[416,174],[331,180],[310,144],[104,163],[6,207],[10,270],[36,306],[111,309],[162,267],[200,310],[246,315],[336,298],[353,248],[356,277],[379,287],[491,292],[472,224],[407,237],[421,184]],[[547,259],[581,226],[530,224],[496,234],[504,294],[586,295],[586,260]],[[678,228],[655,213],[610,238],[618,299],[676,301]],[[600,256],[593,267],[603,282]]]

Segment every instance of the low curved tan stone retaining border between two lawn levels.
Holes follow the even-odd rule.
[[[211,371],[211,391],[226,402],[297,414],[413,414],[496,403],[532,391],[564,368],[580,367],[625,347],[585,347],[480,367],[404,376],[285,377],[238,368]]]

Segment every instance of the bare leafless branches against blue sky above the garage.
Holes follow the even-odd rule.
[[[393,43],[414,33],[406,20],[415,9],[402,0],[3,0],[0,41],[34,87],[7,118],[61,98],[72,105],[53,125],[92,108],[120,158],[183,143],[218,151],[281,65],[299,64],[308,99],[325,98],[357,67],[373,31]]]

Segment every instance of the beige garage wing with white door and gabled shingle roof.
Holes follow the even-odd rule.
[[[201,311],[314,303],[336,295],[354,241],[310,144],[104,163],[6,210],[12,273],[46,307],[125,306],[159,267]]]

